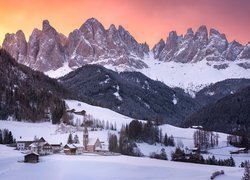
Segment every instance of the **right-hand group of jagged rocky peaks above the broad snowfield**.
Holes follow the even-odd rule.
[[[154,57],[160,61],[180,63],[245,60],[250,59],[249,52],[248,45],[244,47],[236,41],[228,43],[225,34],[215,29],[208,33],[206,26],[201,26],[195,33],[188,29],[184,36],[170,32],[166,42],[160,41],[153,48]]]

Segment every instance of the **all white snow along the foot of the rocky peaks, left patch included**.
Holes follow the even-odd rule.
[[[195,96],[195,93],[211,83],[223,81],[229,78],[250,78],[249,69],[244,69],[237,63],[247,62],[247,60],[227,61],[226,69],[215,69],[214,65],[221,65],[225,62],[202,60],[193,63],[177,63],[177,62],[162,62],[154,58],[153,52],[145,55],[143,62],[148,68],[135,69],[128,67],[126,64],[113,66],[113,58],[100,58],[98,61],[89,62],[90,64],[101,64],[104,67],[122,72],[122,71],[139,71],[151,79],[161,81],[170,87],[180,87],[187,93]],[[52,78],[58,78],[73,71],[77,67],[69,67],[65,62],[63,67],[57,70],[45,72],[46,75]],[[147,88],[144,87],[144,88]]]

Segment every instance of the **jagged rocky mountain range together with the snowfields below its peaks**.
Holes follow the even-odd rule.
[[[66,37],[45,20],[28,42],[19,30],[6,34],[2,47],[18,62],[56,78],[82,65],[100,64],[116,71],[140,71],[191,94],[210,83],[250,78],[250,44],[228,42],[225,34],[206,26],[196,32],[189,28],[185,35],[172,31],[149,50],[122,26],[105,29],[91,18]]]

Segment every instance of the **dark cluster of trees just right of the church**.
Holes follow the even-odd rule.
[[[165,146],[175,146],[173,136],[162,135],[162,130],[151,121],[146,123],[133,120],[129,125],[123,125],[120,130],[119,139],[116,134],[109,135],[109,151],[119,152],[125,155],[142,156],[136,143],[145,142],[148,144],[161,143]],[[163,153],[163,152],[162,152]],[[152,154],[152,157],[163,157],[164,153]],[[167,157],[166,157],[167,159]]]

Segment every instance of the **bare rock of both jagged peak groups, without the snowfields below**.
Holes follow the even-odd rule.
[[[220,62],[213,65],[225,69],[228,62],[245,69],[250,68],[250,44],[242,45],[237,41],[228,42],[225,34],[215,29],[201,26],[194,32],[191,28],[185,35],[169,33],[166,41],[160,40],[152,50],[146,43],[138,43],[122,26],[111,25],[108,29],[96,19],[88,19],[79,29],[68,37],[58,33],[49,23],[43,21],[42,30],[35,28],[26,41],[19,30],[6,34],[2,47],[19,63],[35,70],[47,72],[63,67],[71,69],[85,64],[111,65],[126,69],[148,68],[144,62],[150,52],[157,61],[195,63],[202,60]]]

